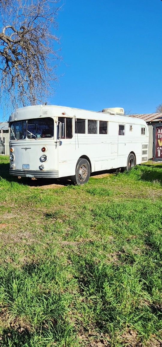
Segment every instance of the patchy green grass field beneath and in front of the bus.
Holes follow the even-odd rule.
[[[162,346],[162,165],[82,187],[8,170],[1,156],[0,346]]]

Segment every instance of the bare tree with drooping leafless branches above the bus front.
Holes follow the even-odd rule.
[[[0,101],[12,111],[53,91],[59,60],[58,0],[0,0]]]

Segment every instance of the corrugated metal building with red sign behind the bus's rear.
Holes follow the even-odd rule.
[[[146,113],[144,115],[130,115],[144,119],[149,130],[148,159],[162,161],[162,113]]]

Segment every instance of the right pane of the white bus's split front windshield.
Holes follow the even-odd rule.
[[[35,118],[27,121],[27,138],[44,138],[54,136],[52,118]]]

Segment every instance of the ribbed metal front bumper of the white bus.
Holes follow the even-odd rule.
[[[12,176],[21,176],[21,177],[36,177],[36,178],[58,178],[58,170],[54,171],[32,171],[32,170],[9,170],[10,175]]]

